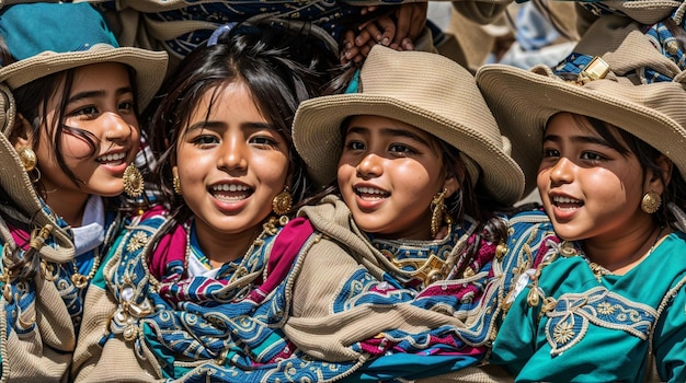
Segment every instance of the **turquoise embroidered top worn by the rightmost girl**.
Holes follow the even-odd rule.
[[[686,381],[686,234],[672,233],[626,275],[599,280],[576,251],[565,257],[552,248],[538,286],[529,280],[506,313],[491,362],[517,382],[640,382],[652,369],[652,330],[661,380]]]

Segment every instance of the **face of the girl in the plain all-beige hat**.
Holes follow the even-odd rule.
[[[433,197],[457,189],[433,136],[379,116],[350,120],[338,177],[357,225],[388,239],[431,239]]]

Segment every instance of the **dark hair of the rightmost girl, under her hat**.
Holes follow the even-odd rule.
[[[660,205],[660,208],[652,214],[652,217],[659,225],[672,227],[671,223],[675,221],[675,217],[670,209],[666,208],[666,206],[670,202],[674,202],[681,209],[686,208],[686,182],[684,182],[684,177],[682,177],[682,174],[676,165],[674,165],[674,169],[672,170],[672,177],[667,183],[662,167],[660,167],[656,163],[656,160],[663,155],[658,149],[651,147],[645,141],[621,129],[620,127],[615,127],[592,117],[576,114],[573,114],[572,116],[580,127],[586,127],[595,130],[605,141],[607,141],[610,148],[615,149],[625,158],[630,154],[636,155],[641,169],[643,170],[643,175],[645,175],[648,171],[652,171],[655,176],[662,179],[663,184],[665,184],[665,190],[662,194],[662,205]],[[613,134],[614,130],[619,134],[621,140]],[[673,227],[673,229],[677,228]]]

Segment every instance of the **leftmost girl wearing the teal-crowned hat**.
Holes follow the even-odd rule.
[[[167,55],[118,48],[88,4],[3,8],[0,34],[12,56],[0,70],[10,105],[3,134],[28,173],[23,193],[39,196],[50,217],[7,221],[2,347],[12,351],[2,374],[64,380],[88,286],[124,219],[118,196],[140,194],[139,179],[127,178],[137,173],[136,111],[161,83]],[[62,235],[73,242],[71,256],[43,257],[41,244],[64,246]]]

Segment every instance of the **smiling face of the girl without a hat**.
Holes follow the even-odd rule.
[[[288,144],[242,82],[208,90],[180,134],[176,165],[198,237],[252,233],[270,216],[288,176]]]

